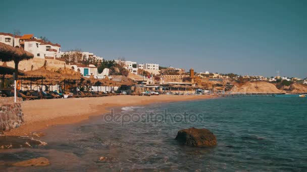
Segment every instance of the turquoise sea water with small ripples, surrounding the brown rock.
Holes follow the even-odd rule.
[[[1,161],[44,156],[49,166],[0,169],[307,171],[307,98],[228,97],[124,107],[114,113],[50,127],[41,137],[45,147],[0,153]],[[178,130],[190,127],[211,130],[218,145],[189,147],[174,140]],[[98,161],[100,156],[108,160]]]

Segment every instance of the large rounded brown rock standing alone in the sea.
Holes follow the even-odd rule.
[[[214,146],[217,144],[217,138],[208,129],[188,128],[178,131],[176,140],[185,145],[191,146]]]

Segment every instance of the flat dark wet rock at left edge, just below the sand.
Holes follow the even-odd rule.
[[[0,148],[38,147],[46,145],[46,142],[26,136],[0,136]]]

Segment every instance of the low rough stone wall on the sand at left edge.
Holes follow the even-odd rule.
[[[0,98],[0,131],[9,131],[24,123],[21,98],[14,103],[14,97]]]

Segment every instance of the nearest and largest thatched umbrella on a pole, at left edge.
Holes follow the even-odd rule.
[[[34,55],[21,49],[0,42],[0,60],[14,61],[15,63],[15,80],[18,79],[18,64],[21,60],[28,60]]]

